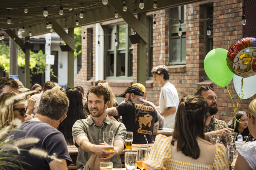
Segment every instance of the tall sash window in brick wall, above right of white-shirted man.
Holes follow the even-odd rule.
[[[174,7],[169,10],[169,63],[170,65],[186,63],[186,5]],[[181,20],[181,25],[178,20]],[[179,28],[182,35],[178,35]]]

